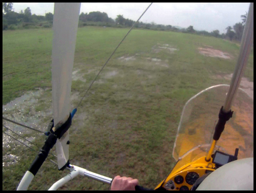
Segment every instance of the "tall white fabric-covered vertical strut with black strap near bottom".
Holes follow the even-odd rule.
[[[72,69],[81,3],[55,3],[53,19],[52,95],[55,127],[69,117]],[[57,141],[58,167],[69,159],[68,131]]]

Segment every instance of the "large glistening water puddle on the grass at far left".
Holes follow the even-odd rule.
[[[48,123],[43,122],[43,120],[45,117],[49,117],[50,115],[52,115],[52,111],[50,109],[47,109],[46,111],[37,111],[36,108],[41,102],[39,101],[39,99],[42,97],[43,93],[46,90],[48,89],[40,88],[38,91],[26,92],[21,97],[16,98],[15,100],[11,101],[6,105],[3,105],[3,116],[16,122],[30,126],[32,128],[45,131]],[[6,120],[3,120],[3,124],[7,128],[11,129],[12,131],[18,133],[19,135],[25,137],[27,140],[32,142],[35,140],[36,137],[43,135],[42,133],[38,133],[36,131],[27,129]],[[3,131],[23,142],[24,144],[32,146],[30,142],[19,137],[7,128],[3,127]],[[18,154],[15,155],[13,152],[20,152],[22,148],[28,148],[19,141],[3,133],[3,148],[11,148],[10,152],[3,154],[3,166],[17,163],[20,157]]]

